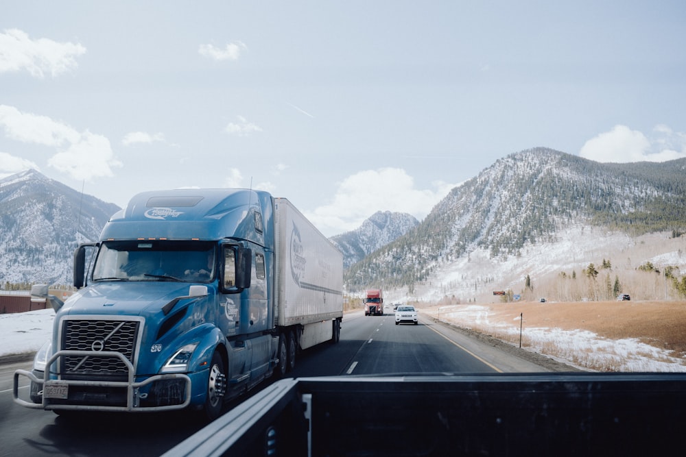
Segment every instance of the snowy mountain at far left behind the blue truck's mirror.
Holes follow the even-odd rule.
[[[117,210],[35,170],[0,180],[0,287],[71,284],[75,247],[97,240]]]

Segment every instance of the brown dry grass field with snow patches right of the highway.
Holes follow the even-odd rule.
[[[686,302],[428,306],[442,321],[596,371],[686,370]],[[520,319],[520,315],[522,319]]]

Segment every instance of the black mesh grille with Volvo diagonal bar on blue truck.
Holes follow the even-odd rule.
[[[65,321],[61,349],[93,351],[93,355],[62,357],[62,375],[126,376],[126,365],[119,358],[98,354],[99,351],[117,351],[133,363],[138,330],[138,321]]]

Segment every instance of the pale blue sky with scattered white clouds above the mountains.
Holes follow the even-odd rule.
[[[501,157],[686,157],[682,1],[3,1],[0,177],[250,187],[327,236]]]

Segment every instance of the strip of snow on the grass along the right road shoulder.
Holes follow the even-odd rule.
[[[431,314],[440,321],[519,344],[519,323],[508,325],[490,321],[486,306],[441,306],[435,309],[425,308],[422,312]],[[519,317],[515,320],[519,321]],[[609,340],[587,330],[559,328],[525,328],[521,336],[523,349],[545,354],[581,369],[686,372],[686,361],[672,356],[672,351],[646,345],[636,338]]]

